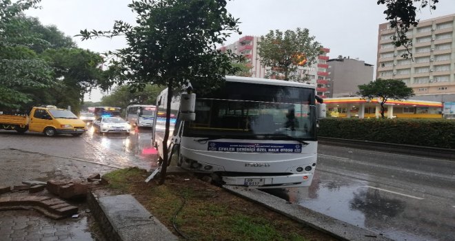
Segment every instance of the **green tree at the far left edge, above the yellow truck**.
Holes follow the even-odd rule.
[[[24,34],[19,14],[39,0],[0,0],[0,107],[19,108],[32,98],[24,89],[44,90],[53,84],[52,68],[30,48],[40,40]]]

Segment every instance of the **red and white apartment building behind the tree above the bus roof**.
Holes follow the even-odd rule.
[[[261,56],[258,54],[257,50],[259,41],[261,41],[261,39],[257,36],[243,36],[238,41],[221,47],[220,50],[231,50],[235,54],[242,54],[246,57],[247,62],[252,65],[252,69],[250,70],[252,77],[265,78],[267,69],[270,70],[270,67],[261,65]],[[330,49],[323,48],[322,50],[323,54],[318,56],[317,63],[314,63],[311,66],[298,67],[294,74],[305,79],[305,83],[318,85],[316,88],[317,94],[325,98],[327,91],[327,87],[325,86],[327,84],[326,79],[329,75],[327,65],[329,56],[327,56],[327,54],[330,52]]]

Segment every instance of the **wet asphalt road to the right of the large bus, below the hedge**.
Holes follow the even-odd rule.
[[[394,240],[455,240],[455,162],[319,146],[309,188],[290,202]]]

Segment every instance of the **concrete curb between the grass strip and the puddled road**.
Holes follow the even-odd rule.
[[[305,207],[301,207],[300,205],[286,203],[285,200],[281,198],[272,196],[269,193],[265,193],[257,189],[247,189],[246,187],[234,187],[228,185],[223,185],[223,188],[235,193],[238,196],[258,202],[264,207],[277,211],[284,216],[296,220],[297,222],[307,224],[314,229],[332,235],[334,238],[338,238],[339,240],[390,240],[389,238],[385,238],[378,233],[356,227],[341,220],[336,220],[335,218],[325,216],[322,213],[312,211]]]

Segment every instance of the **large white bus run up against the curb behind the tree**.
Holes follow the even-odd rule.
[[[197,90],[197,88],[196,88]],[[167,90],[157,98],[165,112]],[[304,83],[226,76],[223,86],[198,94],[195,120],[183,121],[172,98],[170,159],[226,185],[307,187],[317,158],[315,87]],[[321,105],[325,114],[325,105]],[[164,122],[153,142],[163,158]]]

